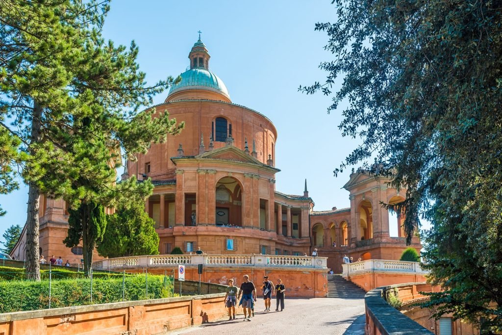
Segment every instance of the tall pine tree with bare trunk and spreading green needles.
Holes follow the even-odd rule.
[[[40,194],[62,197],[72,210],[82,204],[112,206],[127,192],[144,198],[152,191],[149,182],[114,185],[121,150],[133,158],[183,124],[155,109],[140,112],[174,80],[147,86],[136,63],[138,47],[132,43],[127,50],[102,39],[107,1],[4,3],[0,119],[14,123],[0,127],[30,156],[23,164],[29,185],[27,275],[38,280]],[[88,262],[87,268],[92,253]]]

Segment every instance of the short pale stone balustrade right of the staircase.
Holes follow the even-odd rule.
[[[383,259],[369,259],[342,265],[342,276],[347,278],[351,275],[365,272],[400,272],[426,275],[429,272],[422,270],[419,262],[392,261]]]

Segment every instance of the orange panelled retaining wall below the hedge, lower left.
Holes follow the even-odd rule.
[[[189,287],[190,283],[186,283]],[[0,334],[149,335],[220,319],[224,293],[0,314]]]

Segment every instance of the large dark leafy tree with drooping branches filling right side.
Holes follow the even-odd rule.
[[[342,135],[362,139],[335,174],[376,157],[372,171],[407,190],[395,209],[408,242],[421,214],[433,224],[436,316],[502,331],[502,2],[333,3],[336,22],[315,28],[334,55],[327,78],[300,90],[332,95]]]

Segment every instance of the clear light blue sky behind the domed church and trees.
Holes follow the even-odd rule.
[[[335,178],[332,171],[359,141],[341,137],[337,126],[343,105],[328,115],[329,97],[297,91],[299,85],[323,81],[326,73],[318,65],[333,58],[323,49],[326,33],[314,31],[316,22],[335,21],[330,3],[115,0],[103,35],[116,45],[136,41],[141,70],[153,84],[185,71],[197,31],[202,31],[210,70],[224,81],[232,101],[258,110],[277,128],[276,166],[282,171],[276,189],[303,194],[307,178],[314,210],[343,208],[350,205],[348,192],[341,189],[350,172]],[[155,103],[166,96],[159,94]],[[27,193],[22,185],[0,196],[8,210],[0,217],[0,235],[11,225],[25,224]],[[391,235],[396,236],[394,226]]]

